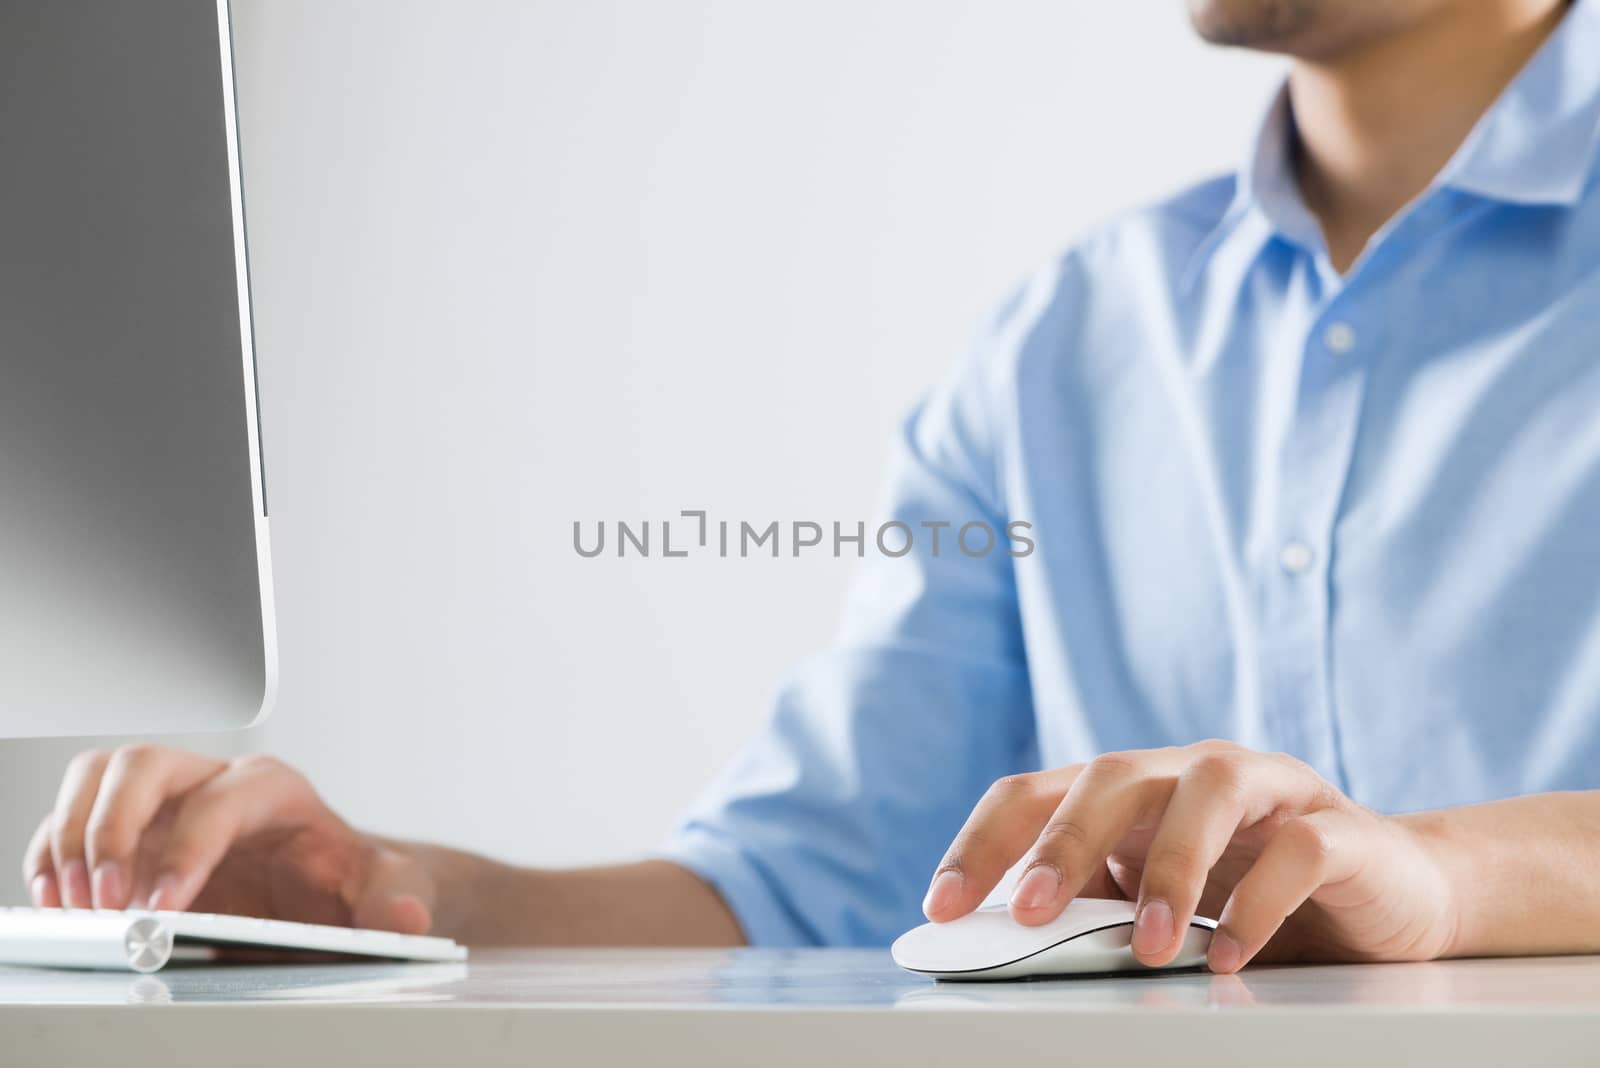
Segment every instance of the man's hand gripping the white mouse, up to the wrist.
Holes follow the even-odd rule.
[[[1301,761],[1226,742],[1109,753],[1002,779],[934,873],[930,919],[976,908],[1029,855],[1011,894],[1024,924],[1074,897],[1138,902],[1133,953],[1171,961],[1195,913],[1208,964],[1411,961],[1445,954],[1456,900],[1426,823],[1363,809]]]

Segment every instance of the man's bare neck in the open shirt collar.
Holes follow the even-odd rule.
[[[1464,0],[1333,58],[1298,59],[1296,171],[1344,272],[1539,48],[1565,0]]]

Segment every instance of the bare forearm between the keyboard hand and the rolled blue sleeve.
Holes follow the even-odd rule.
[[[717,894],[669,860],[563,871],[395,843],[432,873],[434,931],[467,945],[742,945]]]

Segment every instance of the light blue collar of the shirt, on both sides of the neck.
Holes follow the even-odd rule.
[[[1240,165],[1234,198],[1190,257],[1182,285],[1240,224],[1317,248],[1322,232],[1294,181],[1294,115],[1288,83],[1272,96]],[[1549,40],[1477,122],[1434,185],[1517,205],[1571,205],[1600,152],[1600,0],[1573,0]]]

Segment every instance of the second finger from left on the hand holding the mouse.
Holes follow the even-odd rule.
[[[1083,767],[1045,822],[1022,878],[1011,892],[1011,916],[1050,923],[1106,865],[1117,843],[1173,790],[1170,759],[1160,751],[1107,753]]]

